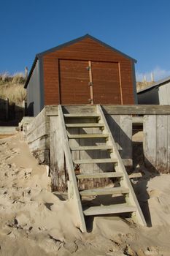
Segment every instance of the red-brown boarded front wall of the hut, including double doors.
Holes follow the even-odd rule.
[[[85,38],[43,56],[45,105],[89,104],[88,61],[92,64],[94,103],[134,104],[133,60]],[[106,91],[110,93],[104,95]]]

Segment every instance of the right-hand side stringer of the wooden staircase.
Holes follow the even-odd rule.
[[[142,210],[139,206],[139,202],[134,193],[134,189],[131,185],[131,181],[128,178],[128,173],[126,172],[125,166],[123,165],[123,160],[120,157],[119,151],[117,150],[115,140],[112,136],[112,133],[110,132],[109,125],[107,124],[107,120],[104,116],[104,112],[101,109],[101,105],[96,105],[96,108],[97,108],[97,113],[100,114],[100,116],[101,116],[100,121],[102,123],[104,123],[104,128],[106,129],[105,132],[107,132],[109,135],[108,143],[109,144],[112,143],[112,146],[113,146],[113,151],[111,154],[114,154],[114,157],[117,158],[118,165],[115,167],[115,170],[119,171],[119,172],[123,172],[123,179],[120,181],[120,185],[129,188],[129,196],[126,197],[126,201],[127,201],[127,203],[131,203],[132,206],[136,206],[136,212],[135,212],[134,217],[135,217],[136,221],[139,222],[140,225],[146,226],[147,224],[146,224],[144,216],[142,214]]]

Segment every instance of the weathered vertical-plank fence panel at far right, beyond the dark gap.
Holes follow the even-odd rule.
[[[144,162],[157,173],[170,172],[170,115],[144,116]]]

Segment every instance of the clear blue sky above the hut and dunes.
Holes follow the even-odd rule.
[[[136,77],[170,75],[169,0],[0,0],[0,73],[91,34],[136,59]]]

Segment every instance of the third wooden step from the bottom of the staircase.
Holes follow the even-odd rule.
[[[76,177],[78,179],[83,179],[83,178],[120,178],[120,177],[123,177],[123,173],[120,173],[120,172],[85,173],[85,174],[78,174]]]

